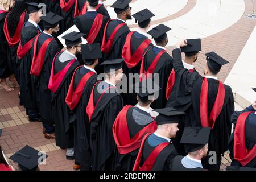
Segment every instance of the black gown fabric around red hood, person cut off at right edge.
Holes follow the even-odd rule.
[[[240,114],[245,112],[255,111],[252,106],[247,107],[245,110],[242,111],[235,111],[232,114],[232,123],[234,125],[234,129],[236,128],[237,119],[240,116]],[[250,122],[249,122],[250,120]],[[247,150],[251,150],[256,144],[256,115],[254,113],[251,113],[249,117],[246,118],[246,124],[245,124],[245,142],[246,142],[246,148]],[[234,159],[234,132],[232,133],[230,139],[229,139],[229,156],[230,159],[232,159],[231,166],[239,166],[242,167],[241,163],[238,162],[236,159]],[[255,154],[256,155],[256,154]],[[253,167],[256,168],[256,156],[253,160],[251,160],[248,164],[246,164],[244,167]]]

